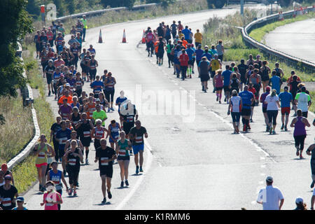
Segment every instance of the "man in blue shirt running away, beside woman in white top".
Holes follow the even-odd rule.
[[[251,116],[251,104],[253,104],[254,96],[252,92],[248,91],[248,85],[244,86],[244,91],[239,92],[239,97],[243,102],[241,108],[241,123],[243,123],[243,132],[247,132],[249,127],[249,117]]]

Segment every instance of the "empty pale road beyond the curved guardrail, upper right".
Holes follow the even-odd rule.
[[[293,22],[265,35],[266,45],[315,63],[315,19]]]

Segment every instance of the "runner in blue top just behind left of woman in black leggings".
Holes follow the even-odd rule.
[[[66,163],[62,159],[64,156],[64,146],[66,145],[66,141],[71,139],[71,130],[66,127],[66,121],[62,120],[60,122],[61,129],[56,133],[56,140],[59,141],[58,145],[58,158],[59,161],[62,162],[62,169],[64,170],[64,176],[66,176]]]

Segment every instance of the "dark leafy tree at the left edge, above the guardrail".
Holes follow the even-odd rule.
[[[22,76],[22,62],[15,57],[17,42],[33,31],[26,8],[27,0],[0,1],[0,95],[15,97],[27,81]]]

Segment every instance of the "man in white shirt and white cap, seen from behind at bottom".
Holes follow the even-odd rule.
[[[267,176],[266,188],[262,188],[258,193],[257,203],[262,204],[263,210],[281,210],[283,205],[281,190],[272,186],[273,181],[272,176]]]

